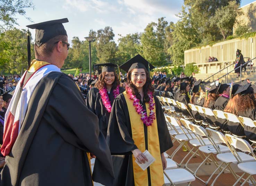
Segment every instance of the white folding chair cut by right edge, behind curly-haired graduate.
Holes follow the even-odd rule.
[[[256,123],[248,117],[239,116],[238,118],[240,122],[244,125],[245,135],[247,139],[252,142],[251,147],[253,147],[253,145],[256,145],[256,139],[252,139],[251,137],[254,137],[256,134],[250,131],[255,131]],[[255,149],[256,147],[254,148],[254,150]]]

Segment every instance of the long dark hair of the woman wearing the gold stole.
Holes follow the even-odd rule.
[[[145,70],[145,69],[144,69]],[[137,90],[137,88],[133,85],[133,82],[131,82],[131,73],[133,72],[133,70],[130,70],[128,73],[127,73],[127,86],[129,86],[133,92],[133,95],[136,96],[137,99],[141,100],[141,96]],[[154,88],[152,87],[152,80],[149,76],[149,73],[147,70],[145,70],[146,72],[146,83],[145,85],[143,86],[143,94],[144,94],[144,100],[145,100],[145,103],[147,103],[148,101],[150,101],[150,98],[147,94],[148,91],[151,91],[152,93],[154,93]],[[127,91],[126,91],[127,92]],[[128,94],[128,92],[127,92]]]

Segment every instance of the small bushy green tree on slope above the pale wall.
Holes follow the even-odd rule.
[[[225,39],[233,32],[233,26],[237,23],[237,16],[241,15],[242,10],[236,1],[230,1],[227,6],[222,6],[215,11],[215,15],[211,18],[211,25],[215,25],[220,29],[220,33]]]

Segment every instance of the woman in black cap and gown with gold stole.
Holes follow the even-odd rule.
[[[154,67],[139,54],[120,66],[127,72],[126,91],[113,103],[107,141],[115,172],[114,186],[162,186],[166,168],[164,152],[173,144],[148,68]],[[146,162],[148,150],[155,162],[143,171],[135,162]]]

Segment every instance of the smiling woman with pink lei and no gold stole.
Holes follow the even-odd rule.
[[[95,86],[87,94],[86,105],[99,118],[100,131],[106,138],[114,98],[125,89],[120,87],[119,77],[115,70],[116,64],[104,63],[96,65],[102,66],[102,72]]]

